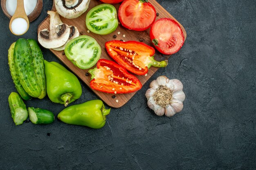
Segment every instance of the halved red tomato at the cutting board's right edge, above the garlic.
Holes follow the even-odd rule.
[[[180,25],[171,18],[160,18],[150,29],[150,39],[162,54],[174,54],[184,44]]]

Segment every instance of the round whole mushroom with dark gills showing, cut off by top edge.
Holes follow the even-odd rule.
[[[90,0],[54,0],[57,12],[68,19],[77,18],[89,7]]]

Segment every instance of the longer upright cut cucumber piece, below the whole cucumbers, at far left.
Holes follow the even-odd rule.
[[[11,117],[16,125],[22,124],[27,119],[28,113],[26,105],[18,93],[11,92],[8,97],[11,109]]]

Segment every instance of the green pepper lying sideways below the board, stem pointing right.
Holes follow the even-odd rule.
[[[110,113],[110,109],[105,109],[101,100],[90,100],[65,108],[58,113],[58,119],[67,124],[100,129],[105,125],[106,116]]]

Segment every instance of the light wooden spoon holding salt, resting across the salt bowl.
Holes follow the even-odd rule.
[[[9,24],[9,28],[10,28],[11,33],[13,33],[14,35],[23,35],[23,34],[25,34],[27,32],[27,30],[24,31],[23,33],[14,33],[12,28],[11,28],[12,27],[11,24],[13,24],[13,21],[15,19],[17,19],[17,18],[22,18],[22,19],[24,19],[27,22],[27,30],[28,30],[29,29],[29,19],[27,17],[25,9],[24,9],[24,2],[23,2],[23,0],[17,0],[16,11],[13,14],[13,16],[11,17],[10,24]]]

